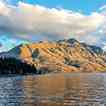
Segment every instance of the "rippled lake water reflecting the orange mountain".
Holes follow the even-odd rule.
[[[0,106],[106,106],[106,74],[0,77]]]

